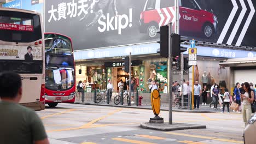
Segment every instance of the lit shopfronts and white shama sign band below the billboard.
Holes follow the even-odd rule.
[[[189,45],[183,46],[189,47]],[[225,62],[228,58],[256,56],[255,51],[224,49],[223,47],[220,48],[220,46],[196,47],[197,65],[194,66],[194,80],[199,81],[200,85],[206,85],[208,88],[214,83],[220,85],[222,89],[232,87],[229,83],[230,69],[223,66],[220,67],[219,62]],[[149,43],[107,47],[95,50],[79,50],[74,52],[74,56],[79,64],[83,63],[83,61],[90,61],[90,64],[83,64],[86,65],[85,77],[90,83],[93,83],[92,80],[97,79],[97,81],[101,81],[97,83],[97,87],[104,89],[106,88],[108,80],[112,80],[114,89],[118,90],[117,85],[120,79],[125,81],[125,78],[129,77],[123,70],[124,61],[122,57],[129,55],[131,52],[133,61],[132,76],[138,80],[138,88],[141,89],[141,91],[148,91],[150,81],[157,80],[159,82],[159,90],[164,92],[168,82],[167,59],[160,58],[159,54],[156,52],[158,48],[159,44]],[[188,52],[184,52],[184,56],[188,57]],[[95,73],[95,71],[97,72]],[[185,70],[183,78],[190,80],[191,84],[193,77],[192,71],[192,67],[189,70]],[[173,70],[173,81],[181,83],[180,71]]]

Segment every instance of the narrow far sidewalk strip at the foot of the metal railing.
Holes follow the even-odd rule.
[[[85,104],[85,105],[99,105],[99,106],[114,106],[114,107],[129,107],[129,108],[133,108],[133,109],[148,109],[148,110],[152,110],[152,106],[151,104],[144,104],[144,105],[141,105],[141,106],[136,106],[136,104],[131,104],[131,106],[128,106],[126,103],[124,105],[115,105],[113,103],[113,101],[109,101],[109,104],[107,103],[94,103],[93,101],[84,101],[84,103],[82,102],[78,102],[78,101],[75,101],[75,104]],[[164,103],[164,104],[161,104],[161,110],[162,111],[168,111],[169,110],[169,107],[168,107],[168,104]],[[199,107],[199,109],[194,109],[194,110],[189,110],[189,109],[178,109],[178,107],[172,107],[172,111],[176,111],[176,112],[194,112],[194,113],[208,113],[208,112],[220,112],[221,110],[218,109],[218,110],[214,110],[212,108],[210,108],[209,105],[207,106],[201,106]]]

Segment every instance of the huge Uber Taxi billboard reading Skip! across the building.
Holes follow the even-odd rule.
[[[179,31],[199,41],[254,46],[252,0],[180,0]],[[174,0],[45,0],[45,32],[73,39],[74,50],[156,41],[173,22]]]

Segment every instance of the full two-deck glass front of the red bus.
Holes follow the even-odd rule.
[[[71,40],[56,33],[44,34],[45,87],[64,91],[74,86],[74,57]]]

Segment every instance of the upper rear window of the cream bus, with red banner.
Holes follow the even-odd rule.
[[[0,40],[30,43],[38,39],[42,39],[39,15],[19,11],[0,11]]]

